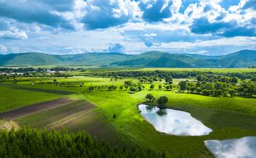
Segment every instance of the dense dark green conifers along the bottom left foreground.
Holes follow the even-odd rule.
[[[0,132],[0,157],[165,157],[142,147],[112,148],[85,132],[21,128]]]

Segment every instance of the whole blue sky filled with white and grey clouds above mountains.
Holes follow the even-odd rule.
[[[256,0],[0,0],[0,54],[256,50]]]

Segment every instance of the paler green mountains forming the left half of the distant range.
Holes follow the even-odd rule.
[[[50,55],[45,53],[16,53],[0,56],[0,66],[31,65],[110,65],[127,58],[123,53],[83,53],[75,55]]]

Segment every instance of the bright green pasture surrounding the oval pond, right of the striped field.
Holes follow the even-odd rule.
[[[142,118],[139,110],[137,110],[137,105],[145,101],[144,97],[147,93],[152,93],[156,97],[160,95],[168,96],[170,107],[191,112],[194,117],[212,128],[213,132],[201,137],[179,137],[157,132]],[[223,98],[211,100],[208,97],[208,100],[200,95],[196,98],[195,96],[190,97],[189,94],[178,94],[183,98],[176,100],[179,97],[175,93],[157,90],[144,90],[135,94],[113,91],[85,93],[84,95],[88,100],[98,105],[114,127],[132,142],[151,149],[165,151],[170,157],[210,157],[203,140],[256,135],[255,109],[250,106],[251,104],[247,105],[248,102],[255,104],[255,101],[246,98],[236,101],[234,107],[236,105],[238,107],[235,110],[225,110],[232,109],[228,105],[233,98],[228,98],[230,100],[223,100]],[[185,97],[188,97],[188,100],[184,100]],[[200,100],[199,104],[196,103],[198,100]],[[222,105],[218,104],[220,102]],[[243,109],[244,107],[247,107],[248,111],[240,111],[240,108]],[[245,112],[253,113],[253,115],[245,114]],[[115,120],[112,119],[114,114],[117,115]],[[227,115],[230,117],[227,117]]]

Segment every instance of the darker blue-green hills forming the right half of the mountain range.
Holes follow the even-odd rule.
[[[151,51],[132,56],[129,60],[114,62],[112,65],[159,68],[245,68],[256,65],[256,51],[243,50],[225,56],[171,54]]]

